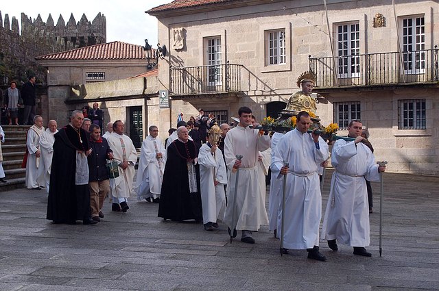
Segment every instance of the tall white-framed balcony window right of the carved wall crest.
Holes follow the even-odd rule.
[[[403,64],[406,74],[420,74],[425,70],[424,17],[403,19]]]

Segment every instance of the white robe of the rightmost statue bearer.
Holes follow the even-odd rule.
[[[379,181],[372,151],[359,142],[337,140],[332,149],[335,172],[331,181],[322,238],[337,239],[348,246],[370,244],[369,205],[366,179]]]

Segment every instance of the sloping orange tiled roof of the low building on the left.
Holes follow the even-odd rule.
[[[145,51],[141,45],[126,42],[108,42],[100,45],[80,47],[70,51],[40,55],[36,60],[144,60]]]

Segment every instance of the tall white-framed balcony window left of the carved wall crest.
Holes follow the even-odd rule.
[[[337,69],[340,78],[359,77],[359,24],[337,26]]]

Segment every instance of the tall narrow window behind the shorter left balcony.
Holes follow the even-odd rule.
[[[221,38],[207,38],[206,53],[209,86],[220,86],[222,84]]]

